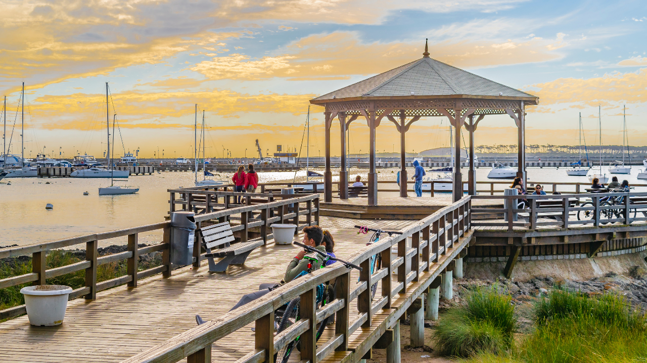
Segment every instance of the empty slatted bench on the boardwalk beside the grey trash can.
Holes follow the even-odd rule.
[[[251,240],[245,243],[231,244],[236,240],[229,222],[218,223],[203,227],[200,232],[202,244],[206,250],[210,272],[225,272],[230,264],[245,264],[247,256],[258,246],[263,245],[263,240]],[[217,264],[214,257],[223,258]]]

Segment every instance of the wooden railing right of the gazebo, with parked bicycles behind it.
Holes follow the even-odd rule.
[[[518,229],[534,230],[537,227],[554,226],[561,229],[600,223],[621,223],[647,221],[647,192],[609,192],[587,194],[547,194],[516,196],[472,196],[474,200],[492,200],[502,203],[503,208],[473,208],[474,227],[507,227],[507,231]],[[522,208],[521,200],[527,200]],[[611,203],[617,199],[617,203]],[[504,202],[507,201],[507,202]],[[544,203],[544,205],[540,205]],[[490,218],[479,218],[480,215]],[[579,214],[579,216],[578,216]],[[639,215],[642,214],[641,217]],[[497,219],[504,216],[507,221]],[[476,219],[479,218],[477,221]],[[517,222],[514,222],[514,219]],[[573,220],[573,219],[577,220]],[[490,220],[488,220],[490,219]],[[522,222],[526,220],[526,222]]]

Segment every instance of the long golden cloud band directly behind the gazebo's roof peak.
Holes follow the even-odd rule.
[[[432,57],[463,68],[494,67],[548,61],[558,55],[544,50],[548,41],[490,43],[443,41],[432,44]],[[242,54],[214,57],[190,68],[210,79],[263,79],[283,77],[292,80],[331,76],[376,74],[422,57],[421,43],[361,43],[351,32],[309,36],[287,47],[281,56],[250,59]]]

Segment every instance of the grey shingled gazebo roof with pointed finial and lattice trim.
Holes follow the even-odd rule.
[[[516,105],[520,105],[520,101],[525,105],[538,103],[538,98],[532,94],[430,58],[426,45],[421,59],[329,92],[311,99],[310,102],[334,110],[347,111],[356,109],[357,101],[381,101],[376,105],[379,109],[395,107],[420,110],[433,109],[436,105],[443,107],[450,99],[463,100],[461,103],[465,106],[470,104],[471,107],[484,112],[487,109],[487,114],[505,113],[503,109],[518,109]],[[417,105],[399,106],[397,100],[413,101]],[[422,113],[427,116],[441,116],[431,110]]]

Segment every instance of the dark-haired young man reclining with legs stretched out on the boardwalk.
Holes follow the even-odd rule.
[[[302,244],[309,245],[325,253],[325,245],[322,244],[322,241],[323,230],[318,225],[312,225],[303,229]],[[301,250],[296,254],[296,256],[294,256],[294,258],[292,258],[292,261],[287,266],[285,276],[283,276],[283,280],[281,280],[281,282],[267,282],[265,284],[259,285],[258,291],[243,295],[243,297],[241,297],[241,300],[239,300],[239,302],[237,302],[237,304],[234,305],[234,307],[232,307],[230,311],[236,309],[237,307],[248,304],[249,302],[258,299],[263,295],[267,295],[268,293],[270,293],[270,291],[277,289],[278,287],[281,287],[281,285],[286,284],[287,282],[291,282],[292,280],[294,280],[294,278],[302,275],[304,271],[307,272],[308,264],[313,263],[313,261],[308,258],[303,258],[305,254],[305,251]],[[316,258],[316,260],[319,262],[318,265],[316,263],[313,265],[313,271],[320,269],[323,263],[321,256],[316,253],[311,254],[311,256]]]

